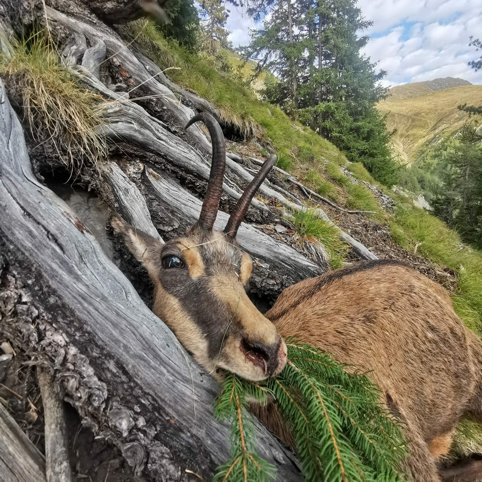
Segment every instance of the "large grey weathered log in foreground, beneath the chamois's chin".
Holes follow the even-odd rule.
[[[53,362],[65,397],[137,473],[188,480],[190,469],[211,477],[229,457],[229,429],[212,417],[216,383],[76,214],[36,180],[3,83],[0,100],[0,266],[10,299],[4,329]],[[36,313],[30,322],[17,320],[16,303],[25,300]],[[258,429],[260,453],[279,479],[299,479],[290,455]]]

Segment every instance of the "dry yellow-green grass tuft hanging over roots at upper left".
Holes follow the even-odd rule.
[[[107,144],[97,128],[103,121],[103,99],[81,87],[43,33],[11,41],[0,54],[0,76],[24,113],[32,138],[52,142],[70,170],[88,162],[98,169]]]

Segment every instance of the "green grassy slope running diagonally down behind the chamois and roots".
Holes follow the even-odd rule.
[[[237,119],[243,125],[255,123],[261,126],[261,137],[271,142],[280,156],[281,165],[313,190],[347,206],[367,210],[373,207],[375,201],[367,194],[368,190],[353,185],[341,173],[339,166],[346,163],[346,158],[328,141],[295,125],[278,107],[260,102],[252,92],[195,55],[167,42],[151,25],[144,28],[138,41],[148,48],[153,60],[161,67],[178,67],[179,70],[169,70],[166,74],[176,83],[210,100],[225,118]],[[482,87],[473,87],[480,88],[482,93]],[[457,95],[456,102],[460,103],[462,100]],[[473,96],[470,102],[475,102]],[[360,163],[348,167],[357,178],[376,184]],[[397,198],[395,194],[391,195]],[[435,263],[454,270],[458,279],[458,293],[453,296],[457,313],[468,326],[482,333],[482,253],[464,247],[454,231],[422,209],[414,208],[406,198],[399,196],[397,201],[395,215],[387,215],[385,219],[394,239],[402,247],[416,250]]]

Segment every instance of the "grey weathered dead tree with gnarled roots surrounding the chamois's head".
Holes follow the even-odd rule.
[[[105,2],[117,12],[116,21],[123,20],[118,13],[125,4],[124,20],[138,15],[133,3]],[[151,235],[182,233],[200,209],[199,199],[185,187],[195,194],[204,190],[210,143],[196,126],[183,132],[194,112],[177,96],[196,108],[217,110],[173,88],[157,66],[136,56],[80,1],[47,4],[44,10],[38,2],[32,11],[30,2],[8,0],[0,6],[0,27],[15,30],[22,13],[37,12],[61,39],[63,58],[73,73],[108,103],[99,134],[124,144],[112,146],[110,161],[92,184],[112,211]],[[142,84],[145,93],[157,96],[164,118],[109,88],[123,77],[130,89]],[[122,161],[121,167],[114,161]],[[50,161],[47,155],[37,156],[36,162],[41,170]],[[229,209],[253,176],[229,158],[226,165],[221,204]],[[76,174],[85,179],[93,172]],[[285,207],[302,208],[269,181],[261,190]],[[225,217],[220,212],[218,222]],[[273,221],[275,216],[254,200],[251,218]],[[189,480],[194,472],[209,479],[229,457],[229,429],[212,416],[217,385],[146,307],[86,223],[34,175],[22,126],[0,83],[0,331],[54,369],[64,399],[94,433],[121,449],[137,474],[151,480]],[[341,235],[352,241],[359,256],[374,257]],[[260,296],[274,298],[290,284],[321,273],[325,265],[248,224],[239,229],[238,240],[257,260],[252,288]],[[299,479],[292,456],[258,428],[261,455],[278,467],[277,479]]]

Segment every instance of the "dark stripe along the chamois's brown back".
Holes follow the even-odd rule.
[[[312,298],[316,293],[318,293],[324,286],[333,283],[336,280],[339,280],[345,276],[350,276],[355,273],[359,273],[361,271],[368,271],[373,268],[377,268],[379,266],[404,266],[408,268],[409,266],[406,263],[402,263],[396,260],[370,260],[370,261],[362,261],[359,263],[355,263],[353,265],[347,266],[345,268],[341,268],[339,270],[333,271],[332,273],[327,273],[318,277],[316,283],[312,285],[312,287],[304,292],[299,298],[293,300],[290,306],[285,308],[284,310],[280,311],[279,313],[275,314],[274,316],[270,316],[271,321],[276,321],[282,318],[286,313],[294,310],[299,304],[303,301],[306,301]]]

